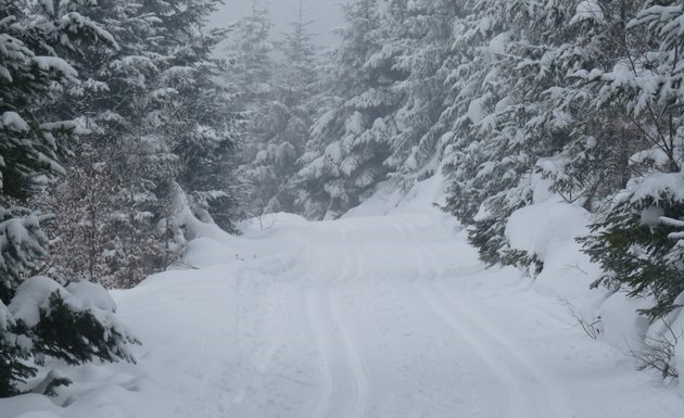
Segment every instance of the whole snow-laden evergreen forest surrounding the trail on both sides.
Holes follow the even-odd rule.
[[[198,225],[435,175],[486,265],[543,270],[507,223],[550,193],[588,214],[592,287],[680,312],[682,1],[350,0],[330,50],[302,8],[274,34],[256,1],[210,28],[220,4],[0,0],[0,397],[46,358],[134,362],[105,289],[182,266]]]

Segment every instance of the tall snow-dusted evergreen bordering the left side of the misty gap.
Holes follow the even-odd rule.
[[[177,159],[175,181],[189,195],[195,216],[236,232],[235,223],[245,216],[243,181],[237,174],[240,109],[235,89],[220,81],[226,62],[212,56],[227,31],[205,26],[218,3],[182,1],[176,13],[163,17],[174,43],[153,85],[163,109],[148,121]]]

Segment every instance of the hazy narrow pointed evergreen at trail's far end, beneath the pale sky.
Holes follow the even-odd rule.
[[[273,86],[269,100],[262,102],[264,109],[258,114],[250,116],[262,118],[252,121],[252,129],[248,130],[252,160],[242,167],[252,185],[255,214],[295,211],[292,178],[317,113],[317,51],[308,24],[300,4],[291,30],[276,43],[280,55],[274,58],[278,71],[268,80]]]

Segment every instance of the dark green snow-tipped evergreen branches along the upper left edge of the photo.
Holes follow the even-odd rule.
[[[37,28],[26,29],[28,16],[21,5],[0,0],[0,190],[16,199],[39,190],[35,173],[55,172],[55,136],[74,128],[41,124],[37,115],[40,104],[53,97],[53,83],[66,86],[75,73],[61,60],[48,59],[45,65],[35,60],[46,52],[45,39]]]

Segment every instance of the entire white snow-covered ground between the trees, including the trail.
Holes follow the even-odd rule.
[[[192,241],[197,269],[114,292],[137,365],[52,365],[74,384],[0,417],[682,417],[681,390],[588,339],[553,286],[485,269],[436,195]]]

